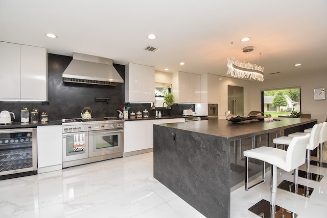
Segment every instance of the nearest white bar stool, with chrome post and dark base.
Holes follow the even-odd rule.
[[[270,178],[270,203],[266,200],[261,200],[249,210],[261,217],[284,217],[283,213],[291,213],[291,217],[296,217],[297,214],[290,212],[276,205],[276,192],[277,192],[277,168],[281,168],[287,172],[294,170],[294,178],[297,175],[298,167],[306,161],[306,149],[310,134],[308,133],[302,137],[294,137],[287,149],[276,149],[272,147],[260,147],[250,149],[243,152],[246,157],[245,168],[247,169],[247,162],[249,158],[259,159],[271,164],[271,178]],[[247,173],[246,173],[247,175]],[[245,178],[247,182],[248,178]],[[270,209],[268,209],[268,208]],[[277,208],[277,209],[276,209]],[[269,211],[270,214],[267,214]]]

